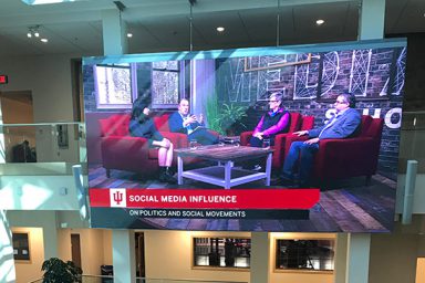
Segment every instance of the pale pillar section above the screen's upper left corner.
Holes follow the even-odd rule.
[[[127,53],[126,24],[118,9],[102,11],[102,30],[105,55]]]

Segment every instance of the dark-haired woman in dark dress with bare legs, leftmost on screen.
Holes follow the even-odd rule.
[[[149,147],[158,148],[159,181],[175,184],[176,179],[169,168],[173,163],[173,144],[156,128],[154,120],[149,117],[149,97],[139,96],[134,102],[128,130],[134,137],[147,138]]]

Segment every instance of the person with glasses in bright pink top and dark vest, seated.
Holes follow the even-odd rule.
[[[274,145],[277,134],[287,133],[291,124],[291,115],[283,109],[282,95],[272,93],[269,98],[270,111],[262,115],[257,127],[253,129],[249,142],[251,146],[261,147],[265,138],[270,139],[270,145]]]

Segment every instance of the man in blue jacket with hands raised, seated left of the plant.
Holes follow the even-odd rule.
[[[168,119],[169,130],[183,133],[189,140],[196,140],[201,145],[212,145],[218,143],[218,137],[204,128],[204,116],[189,114],[189,101],[183,98],[178,104],[178,111],[173,113]]]

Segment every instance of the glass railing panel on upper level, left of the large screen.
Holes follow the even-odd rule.
[[[86,163],[83,123],[0,125],[0,163]]]

